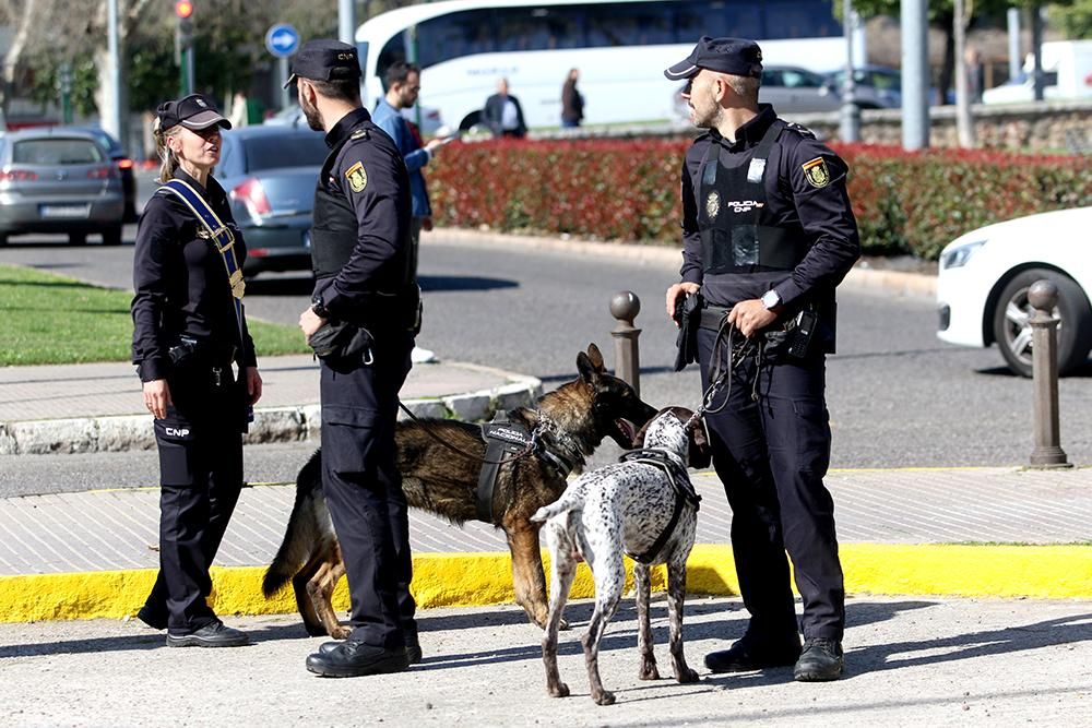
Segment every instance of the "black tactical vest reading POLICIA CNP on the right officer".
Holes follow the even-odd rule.
[[[755,147],[750,160],[738,167],[721,164],[721,145],[709,145],[699,167],[698,229],[703,277],[717,276],[719,290],[731,306],[758,298],[785,278],[808,252],[804,228],[779,223],[767,201],[770,153],[785,122],[776,120]],[[745,275],[740,275],[745,274]],[[725,288],[727,284],[727,288]]]

